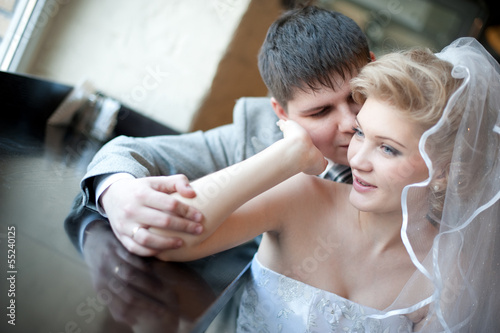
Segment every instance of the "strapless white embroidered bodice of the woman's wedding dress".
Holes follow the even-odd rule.
[[[243,291],[237,332],[411,332],[404,315],[382,314],[264,267],[257,255]]]

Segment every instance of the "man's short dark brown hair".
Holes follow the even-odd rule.
[[[297,90],[335,90],[370,58],[361,28],[340,13],[316,6],[285,12],[269,28],[259,71],[271,95],[286,109]]]

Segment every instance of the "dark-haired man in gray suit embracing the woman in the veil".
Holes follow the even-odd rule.
[[[169,194],[195,196],[188,179],[240,162],[281,139],[278,119],[304,127],[330,162],[324,174],[349,182],[347,147],[360,108],[351,99],[349,80],[373,59],[350,18],[314,6],[284,13],[271,25],[259,53],[271,98],[241,98],[232,124],[206,132],[110,141],[81,182],[86,204],[108,217],[132,253],[154,256],[182,246],[180,239],[148,230],[203,232],[201,214]],[[216,187],[223,191],[223,182]]]

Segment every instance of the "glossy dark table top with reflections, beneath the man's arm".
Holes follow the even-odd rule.
[[[0,332],[203,332],[244,283],[255,244],[182,264],[130,254],[82,206],[79,182],[102,143],[44,116],[6,118]]]

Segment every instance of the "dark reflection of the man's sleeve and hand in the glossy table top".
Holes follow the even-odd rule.
[[[78,204],[73,213],[65,228],[82,244],[97,303],[138,332],[203,331],[245,281],[245,263],[255,251],[248,245],[187,264],[142,258],[120,244],[99,214]],[[93,317],[84,305],[77,311]]]

